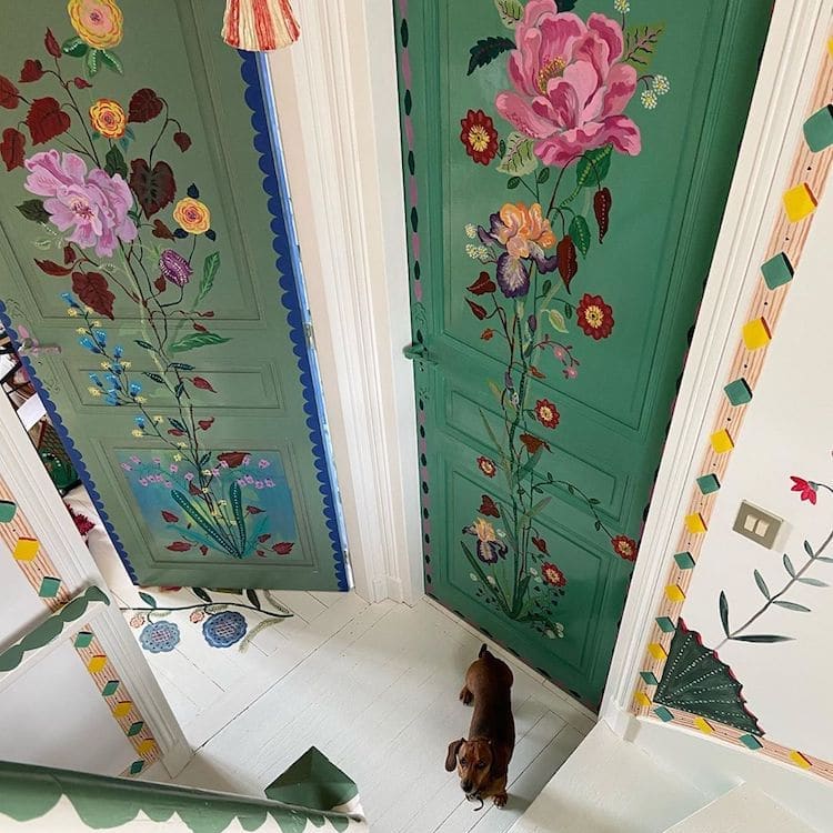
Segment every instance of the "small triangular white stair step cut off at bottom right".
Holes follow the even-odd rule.
[[[816,833],[769,795],[741,784],[665,833]]]

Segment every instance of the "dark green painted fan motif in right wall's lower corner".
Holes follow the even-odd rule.
[[[654,702],[763,735],[757,717],[745,706],[742,690],[732,669],[679,620]]]

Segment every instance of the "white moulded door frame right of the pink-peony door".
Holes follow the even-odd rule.
[[[724,400],[734,347],[761,283],[760,264],[802,136],[820,54],[833,51],[833,0],[775,0],[750,117],[654,483],[600,715],[636,731],[633,694],[665,592],[691,484]],[[736,441],[736,436],[734,438]],[[676,727],[672,729],[674,731]]]

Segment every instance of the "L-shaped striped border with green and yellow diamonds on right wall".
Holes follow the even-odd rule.
[[[638,716],[673,721],[803,770],[812,770],[830,780],[833,780],[833,763],[772,743],[765,737],[706,721],[700,715],[654,705],[653,694],[662,679],[669,646],[709,531],[721,481],[740,438],[749,405],[753,401],[766,349],[774,337],[775,325],[810,234],[815,208],[823,195],[833,164],[832,89],[833,38],[830,38],[811,94],[803,141],[795,152],[782,210],[775,220],[761,265],[761,280],[740,333],[700,474],[692,485],[678,545],[671,558],[665,592],[656,611],[632,704],[632,711]]]

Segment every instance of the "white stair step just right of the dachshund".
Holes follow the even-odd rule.
[[[599,723],[510,833],[663,833],[705,801]]]

